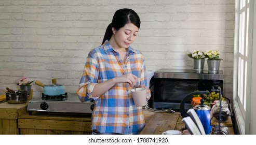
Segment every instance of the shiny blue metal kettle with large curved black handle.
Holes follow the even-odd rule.
[[[181,113],[181,116],[182,118],[185,118],[185,117],[188,117],[188,113],[186,112],[185,110],[185,101],[187,100],[191,100],[193,98],[193,95],[197,95],[197,94],[210,94],[208,91],[196,91],[196,92],[192,92],[192,93],[189,93],[187,94],[183,100],[181,101],[181,104],[180,104],[180,113]],[[204,101],[204,100],[202,100]],[[211,111],[211,108],[209,106],[207,106],[206,104],[204,103],[201,103],[199,105],[196,105],[194,108],[193,108],[196,112],[196,114],[198,115],[201,123],[203,124],[204,126],[204,129],[205,129],[205,133],[206,134],[210,134],[211,133],[211,128],[212,126],[210,125],[210,120],[211,120],[211,115],[210,115],[210,111]]]

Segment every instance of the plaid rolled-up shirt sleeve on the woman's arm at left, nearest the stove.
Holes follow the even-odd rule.
[[[93,51],[90,51],[84,67],[83,76],[79,82],[79,88],[76,91],[80,101],[82,102],[93,98],[91,93],[97,84],[99,76],[99,65],[95,58]]]

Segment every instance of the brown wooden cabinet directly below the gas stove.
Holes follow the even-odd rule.
[[[18,119],[22,135],[91,134],[91,115],[33,112]]]

